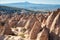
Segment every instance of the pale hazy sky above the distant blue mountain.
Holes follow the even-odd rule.
[[[0,4],[26,2],[26,1],[36,4],[60,4],[60,0],[0,0]]]

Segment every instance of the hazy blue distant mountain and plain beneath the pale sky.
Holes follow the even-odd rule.
[[[60,4],[33,4],[29,2],[2,4],[3,6],[24,8],[30,10],[54,10],[60,8]]]

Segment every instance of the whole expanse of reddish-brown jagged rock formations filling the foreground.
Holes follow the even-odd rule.
[[[1,15],[0,40],[60,40],[60,9],[47,14]]]

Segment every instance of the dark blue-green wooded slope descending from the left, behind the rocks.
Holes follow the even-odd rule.
[[[27,10],[24,8],[16,8],[16,7],[8,7],[8,6],[0,6],[0,14],[12,14],[12,13],[21,13],[21,12],[34,12],[32,10]]]

